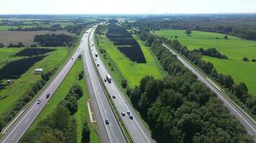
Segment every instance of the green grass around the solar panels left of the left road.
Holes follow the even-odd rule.
[[[0,53],[1,53],[0,49]],[[9,48],[3,49],[5,53],[8,53],[9,56],[6,56],[4,60],[12,59],[12,52],[17,52],[19,49]],[[27,72],[25,72],[22,77],[19,79],[13,80],[14,83],[11,84],[6,89],[0,91],[0,117],[2,114],[7,112],[9,109],[12,109],[15,104],[23,97],[25,93],[29,90],[32,85],[41,79],[41,76],[34,74],[34,70],[37,68],[42,68],[45,71],[50,69],[60,68],[63,65],[64,61],[69,56],[70,49],[68,48],[57,48],[56,51],[52,51],[49,56],[46,56],[42,61],[37,62],[32,66]]]

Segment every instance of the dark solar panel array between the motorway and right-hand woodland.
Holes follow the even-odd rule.
[[[126,29],[112,26],[108,29],[106,36],[127,58],[137,63],[147,63],[140,45]]]

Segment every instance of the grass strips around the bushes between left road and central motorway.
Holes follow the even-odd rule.
[[[82,60],[76,61],[72,69],[69,71],[68,75],[65,77],[63,82],[60,84],[60,87],[58,87],[57,91],[55,94],[52,95],[49,104],[45,106],[45,108],[42,110],[40,115],[35,119],[35,122],[32,124],[32,127],[29,128],[29,130],[34,129],[37,127],[37,124],[45,119],[48,115],[52,114],[54,112],[55,108],[57,105],[63,101],[65,96],[68,94],[69,89],[73,86],[73,84],[77,83],[83,88],[83,97],[78,100],[78,112],[74,114],[73,116],[76,118],[77,122],[77,137],[78,137],[78,142],[81,142],[81,137],[82,137],[82,129],[83,129],[83,124],[85,122],[90,123],[89,119],[89,114],[88,114],[88,109],[86,105],[86,101],[88,99],[88,92],[87,92],[87,87],[86,87],[86,81],[83,79],[78,80],[78,74],[83,71],[83,62]],[[99,135],[96,132],[96,130],[93,128],[91,124],[89,124],[90,129],[91,129],[91,142],[100,142]]]

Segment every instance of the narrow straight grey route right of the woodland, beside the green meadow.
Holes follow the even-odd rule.
[[[219,99],[224,103],[224,106],[226,106],[232,114],[234,114],[237,119],[239,119],[239,122],[242,123],[242,125],[247,129],[248,134],[252,135],[254,140],[256,141],[256,124],[253,121],[253,119],[250,119],[250,117],[247,117],[247,115],[242,112],[241,109],[239,109],[233,102],[230,101],[222,92],[219,87],[217,87],[209,78],[201,74],[200,71],[198,71],[189,61],[184,59],[178,52],[171,49],[168,45],[163,44],[167,49],[169,49],[173,54],[175,54],[178,58],[178,60],[184,64],[189,70],[193,72],[193,74],[196,74],[198,79],[206,84],[207,87],[211,89],[212,92],[214,92]]]

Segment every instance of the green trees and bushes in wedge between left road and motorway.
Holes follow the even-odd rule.
[[[58,104],[54,112],[46,119],[40,121],[35,129],[30,130],[21,142],[77,142],[77,126],[75,117],[72,115],[77,111],[78,99],[83,96],[83,89],[74,84],[62,102]],[[83,124],[83,137],[81,142],[88,142],[90,139],[88,124]]]

